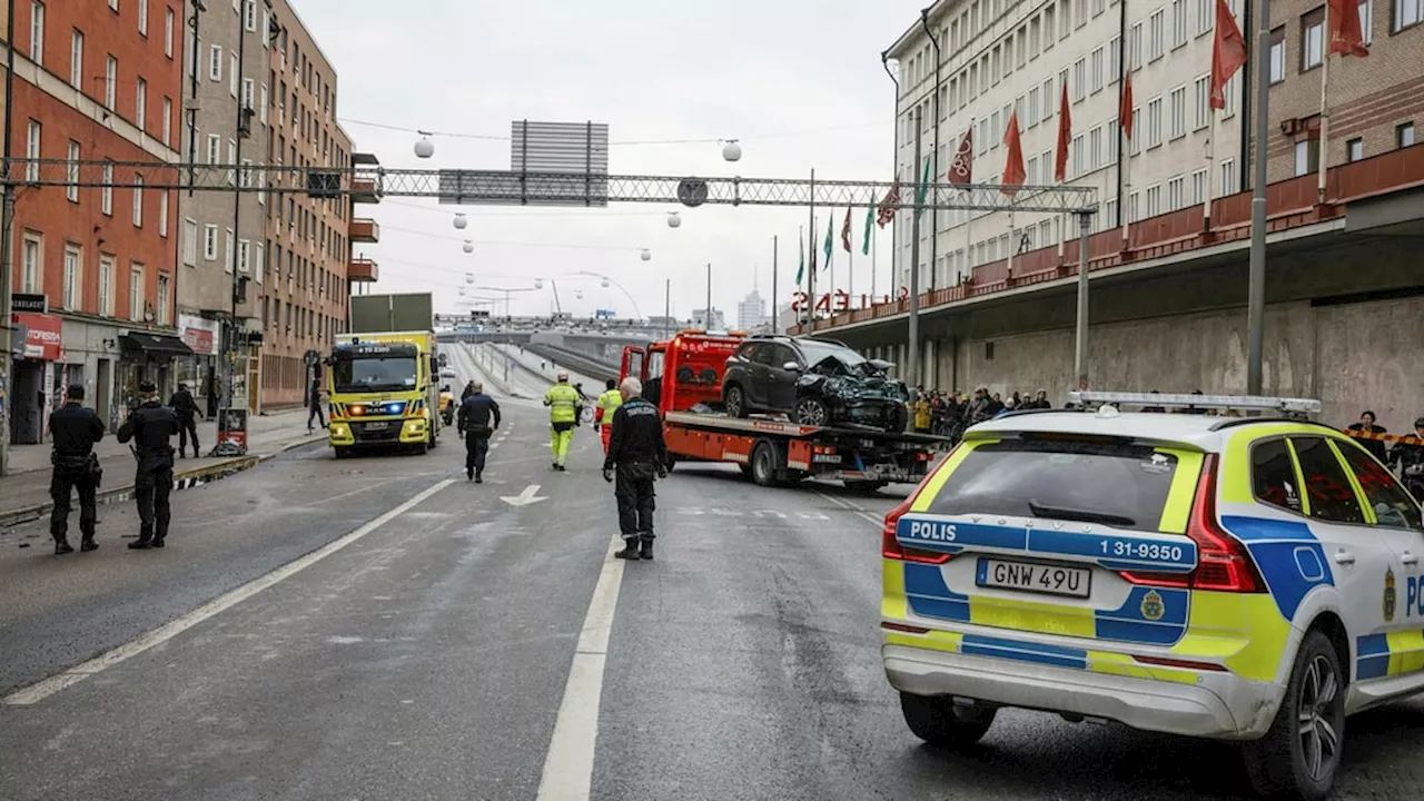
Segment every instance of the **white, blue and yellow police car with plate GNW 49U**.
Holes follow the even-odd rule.
[[[1418,503],[1292,419],[1317,400],[1075,395],[1102,406],[971,428],[886,516],[881,656],[910,730],[1114,720],[1242,741],[1259,792],[1323,798],[1346,715],[1424,690]]]

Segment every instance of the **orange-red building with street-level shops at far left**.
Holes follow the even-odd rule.
[[[17,158],[178,161],[181,0],[14,3]],[[174,336],[175,192],[105,172],[120,185],[17,192],[14,322],[28,335],[7,376],[11,442],[41,440],[68,383],[117,423],[140,381],[172,388],[187,352]]]

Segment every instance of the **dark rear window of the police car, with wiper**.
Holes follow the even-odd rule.
[[[1155,532],[1176,456],[1115,442],[980,445],[934,496],[931,515],[1012,515]]]

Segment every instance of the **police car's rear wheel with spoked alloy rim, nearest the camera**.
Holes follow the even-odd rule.
[[[1276,720],[1265,737],[1242,748],[1256,792],[1304,801],[1329,795],[1344,747],[1341,676],[1330,640],[1320,631],[1307,633]]]

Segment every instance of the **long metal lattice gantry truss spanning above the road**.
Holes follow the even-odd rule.
[[[352,197],[362,202],[437,198],[450,205],[604,207],[608,202],[699,205],[860,207],[880,204],[886,181],[810,178],[703,178],[515,172],[503,170],[387,170],[383,167],[282,167],[263,164],[168,164],[158,161],[13,160],[20,187],[80,187]],[[1014,190],[1005,194],[1004,190]],[[916,188],[900,187],[900,207],[916,207]],[[931,184],[926,210],[1092,214],[1091,187]]]

